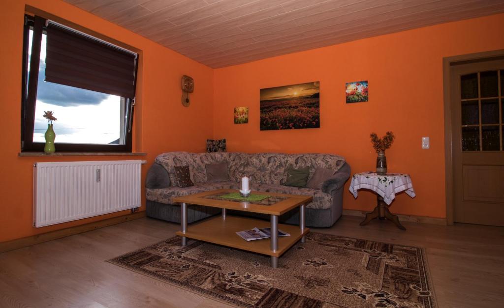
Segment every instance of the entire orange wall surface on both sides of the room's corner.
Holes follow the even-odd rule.
[[[18,156],[25,4],[139,50],[134,150],[147,156]],[[497,33],[504,28],[503,17],[448,23],[213,70],[60,0],[3,1],[0,242],[128,213],[32,227],[35,162],[145,159],[145,179],[159,153],[204,151],[205,140],[211,137],[226,137],[230,151],[337,153],[347,158],[353,172],[359,172],[373,169],[375,153],[369,133],[383,135],[392,130],[397,139],[387,151],[389,170],[410,173],[418,194],[415,199],[399,195],[393,211],[445,217],[442,58],[504,48]],[[196,82],[190,108],[180,104],[182,74],[193,76]],[[369,81],[370,101],[347,105],[344,83],[358,80]],[[259,89],[310,81],[321,82],[320,129],[259,131]],[[233,107],[239,106],[250,107],[249,124],[232,124]],[[431,137],[431,149],[421,149],[421,136]],[[367,192],[357,200],[346,192],[344,198],[348,209],[370,210],[375,202]]]

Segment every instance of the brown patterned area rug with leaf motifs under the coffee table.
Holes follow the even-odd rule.
[[[422,248],[309,233],[268,256],[173,237],[109,262],[242,307],[436,307]]]

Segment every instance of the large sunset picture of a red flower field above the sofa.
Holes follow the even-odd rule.
[[[261,89],[261,130],[320,127],[320,83]]]

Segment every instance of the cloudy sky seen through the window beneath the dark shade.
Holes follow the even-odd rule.
[[[31,55],[33,31],[30,30]],[[119,139],[121,98],[115,95],[45,82],[46,35],[42,36],[33,142],[45,142],[47,120],[52,111],[55,143],[108,144]],[[28,56],[28,59],[30,56]],[[30,65],[28,64],[28,69]],[[114,142],[114,143],[117,143]]]

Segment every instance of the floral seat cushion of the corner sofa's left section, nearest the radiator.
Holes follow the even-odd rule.
[[[156,201],[164,204],[173,204],[172,198],[179,196],[187,196],[191,194],[197,194],[204,191],[210,191],[221,188],[231,188],[238,189],[239,183],[236,182],[207,182],[207,183],[197,183],[194,186],[189,187],[167,187],[159,189],[145,189],[145,197],[147,200]]]

